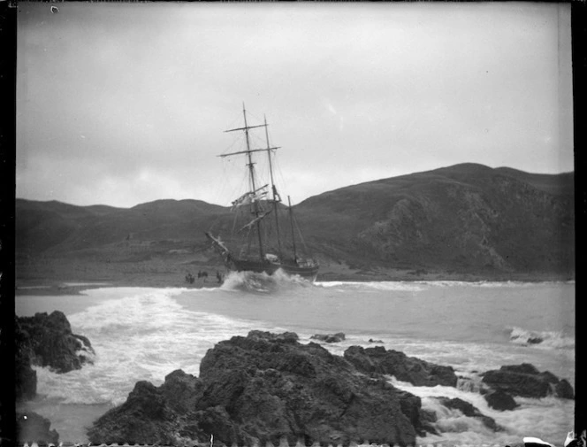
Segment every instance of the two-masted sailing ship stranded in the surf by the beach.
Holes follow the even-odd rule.
[[[223,241],[219,235],[206,236],[213,247],[224,259],[225,266],[236,272],[254,272],[274,274],[279,269],[289,275],[299,275],[309,281],[314,281],[318,274],[319,265],[316,259],[308,257],[301,252],[298,242],[303,243],[301,232],[296,238],[296,221],[291,200],[287,197],[288,204],[282,204],[274,181],[272,157],[275,156],[278,147],[271,147],[267,119],[263,124],[249,126],[245,105],[242,106],[244,127],[237,127],[225,132],[242,132],[246,146],[243,150],[221,154],[218,157],[244,156],[248,168],[248,190],[233,201],[232,210],[235,212],[233,231],[229,235],[230,241]],[[266,148],[251,148],[251,129],[264,127]],[[262,186],[258,173],[256,173],[255,157],[263,152],[267,155],[270,181]],[[287,213],[289,225],[284,222]],[[239,216],[245,214],[247,223],[237,224]],[[289,227],[289,228],[286,228]],[[297,228],[299,231],[299,228]],[[287,231],[289,230],[289,231]],[[289,233],[289,234],[288,234]],[[240,245],[239,248],[235,248]]]

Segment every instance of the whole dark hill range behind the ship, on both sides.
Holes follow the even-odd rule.
[[[324,266],[323,279],[336,272],[574,277],[574,173],[461,164],[325,192],[294,213]],[[177,279],[193,268],[221,268],[203,233],[211,227],[223,233],[232,219],[228,208],[198,200],[125,209],[17,199],[17,274]]]

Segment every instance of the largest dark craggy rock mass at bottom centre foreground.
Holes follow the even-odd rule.
[[[233,445],[286,440],[348,445],[415,444],[431,422],[421,400],[382,376],[294,333],[252,331],[206,353],[200,378],[178,370],[160,387],[138,382],[126,403],[88,430],[92,443]],[[425,419],[425,420],[422,420]]]

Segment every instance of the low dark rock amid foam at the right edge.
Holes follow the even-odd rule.
[[[483,374],[483,382],[512,396],[574,398],[573,387],[567,380],[560,380],[548,371],[540,373],[536,366],[529,363],[487,371]]]

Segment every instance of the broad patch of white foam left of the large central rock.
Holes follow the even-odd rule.
[[[197,375],[203,356],[215,343],[263,329],[248,321],[187,311],[173,299],[185,290],[88,290],[103,296],[103,302],[67,317],[72,331],[92,343],[94,364],[68,374],[35,368],[38,394],[64,404],[118,405],[137,381],[160,385],[165,375],[179,368]]]

